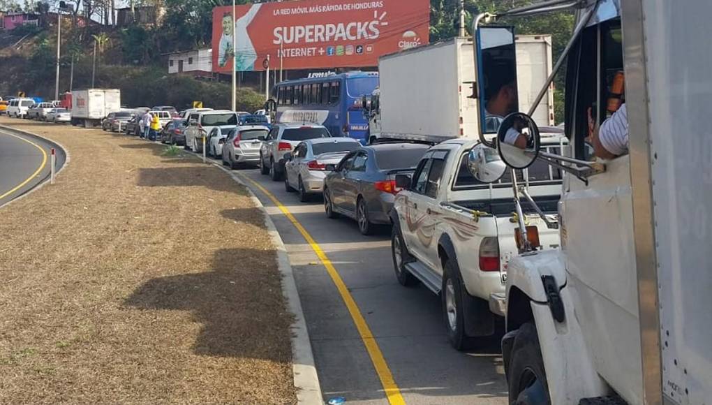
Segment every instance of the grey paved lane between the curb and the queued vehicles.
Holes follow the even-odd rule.
[[[439,298],[424,287],[404,288],[393,273],[389,230],[362,236],[354,222],[328,219],[322,200],[298,202],[257,170],[242,170],[285,205],[333,262],[370,327],[407,404],[506,404],[498,342],[456,352],[444,332]],[[381,382],[333,281],[313,248],[262,191],[286,244],[305,312],[325,399],[387,404]]]

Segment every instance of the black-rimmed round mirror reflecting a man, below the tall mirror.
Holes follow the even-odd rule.
[[[523,112],[513,112],[502,121],[497,132],[499,156],[513,169],[526,169],[539,155],[539,127]]]

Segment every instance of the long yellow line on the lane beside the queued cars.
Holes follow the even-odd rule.
[[[398,388],[395,380],[393,379],[393,374],[391,374],[391,370],[388,368],[386,359],[384,359],[383,353],[378,347],[376,338],[373,337],[373,334],[371,333],[371,330],[368,327],[366,320],[361,314],[361,310],[359,310],[358,305],[356,305],[356,301],[352,297],[348,288],[346,288],[344,280],[341,279],[341,276],[336,271],[336,268],[331,263],[328,256],[326,256],[326,253],[324,253],[323,249],[319,246],[319,244],[314,241],[314,238],[312,238],[312,236],[307,232],[307,230],[302,226],[302,224],[294,218],[292,213],[289,212],[287,207],[284,206],[277,199],[276,196],[274,196],[271,192],[267,191],[267,189],[265,189],[258,182],[255,182],[253,179],[250,179],[242,174],[239,174],[239,176],[243,179],[246,179],[248,182],[256,186],[260,191],[262,191],[266,196],[268,196],[268,198],[272,200],[272,202],[280,209],[280,211],[282,211],[282,213],[287,217],[287,219],[289,219],[289,221],[293,223],[295,228],[297,228],[299,233],[302,234],[307,243],[309,243],[309,246],[311,246],[314,253],[316,253],[316,256],[318,256],[321,263],[324,265],[327,272],[329,273],[331,280],[336,285],[336,288],[339,291],[342,300],[344,300],[344,303],[346,304],[346,307],[348,308],[349,313],[351,314],[351,318],[356,325],[356,329],[358,330],[359,335],[361,336],[361,340],[366,347],[368,355],[371,357],[373,367],[375,367],[376,373],[378,374],[378,378],[381,380],[381,385],[383,386],[383,389],[386,392],[389,404],[405,404],[403,396],[400,393],[400,389]]]

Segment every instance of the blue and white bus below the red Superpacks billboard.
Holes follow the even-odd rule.
[[[277,122],[324,125],[333,137],[367,142],[368,120],[361,96],[378,87],[377,72],[350,72],[323,78],[286,80],[273,88]]]

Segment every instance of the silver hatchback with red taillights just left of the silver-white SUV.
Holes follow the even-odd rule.
[[[260,159],[260,147],[267,139],[268,127],[262,125],[241,125],[228,133],[222,146],[222,162],[230,169],[239,164],[256,164]]]

